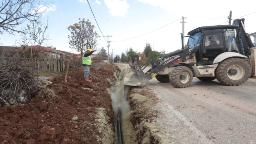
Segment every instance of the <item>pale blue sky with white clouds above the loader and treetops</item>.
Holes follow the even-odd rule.
[[[113,50],[114,56],[121,55],[127,48],[143,52],[147,42],[156,51],[166,50],[166,52],[172,52],[180,49],[182,16],[186,22],[185,36],[190,30],[200,26],[228,24],[227,17],[230,10],[232,10],[232,19],[240,18],[241,16],[245,18],[245,28],[249,34],[256,32],[256,13],[251,14],[256,10],[247,8],[248,3],[251,6],[255,6],[255,0],[240,2],[239,4],[224,0],[210,2],[205,0],[178,0],[175,2],[172,0],[88,1],[92,11],[87,0],[54,1],[54,5],[44,14],[45,18],[49,17],[49,29],[47,32],[51,40],[47,41],[47,46],[56,47],[57,50],[79,53],[71,50],[68,44],[68,35],[70,34],[68,26],[79,22],[79,18],[89,19],[92,22],[95,26],[94,30],[101,36],[98,38],[98,47],[101,48],[103,46],[107,52],[107,37],[105,37],[105,40],[102,34],[104,36],[112,36],[109,37],[109,41],[111,41],[109,43],[109,53]],[[247,14],[250,15],[244,16]],[[253,41],[253,37],[251,38]],[[15,40],[19,39],[19,35],[0,35],[0,43],[5,46],[14,45]],[[187,38],[185,38],[186,42]]]

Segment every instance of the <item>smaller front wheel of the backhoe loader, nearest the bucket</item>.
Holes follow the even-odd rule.
[[[193,72],[186,66],[178,66],[171,71],[169,79],[175,88],[186,88],[192,82]]]

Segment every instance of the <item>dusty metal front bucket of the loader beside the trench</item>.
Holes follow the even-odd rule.
[[[130,79],[125,83],[128,86],[144,86],[148,82],[148,78],[140,68],[139,64],[133,64],[136,72],[132,74]]]

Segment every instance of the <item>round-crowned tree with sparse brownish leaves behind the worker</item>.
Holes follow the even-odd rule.
[[[85,21],[85,19],[79,18],[79,22],[73,25],[68,26],[68,30],[70,31],[69,44],[70,48],[74,49],[78,52],[81,52],[81,57],[83,56],[83,52],[90,48],[88,45],[91,44],[92,49],[97,46],[97,38],[100,38],[98,32],[94,31],[95,26],[92,25],[90,20]]]

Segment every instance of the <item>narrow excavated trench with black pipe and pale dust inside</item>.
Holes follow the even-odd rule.
[[[118,81],[116,81],[114,86],[110,88],[115,118],[115,144],[138,144],[134,127],[132,122],[130,122],[130,106],[126,100],[127,94],[132,86],[124,85],[124,82],[126,82],[128,77],[133,74],[133,71],[127,68],[119,69],[117,71]],[[118,125],[120,125],[120,127]],[[122,136],[120,136],[120,134],[122,134]]]

